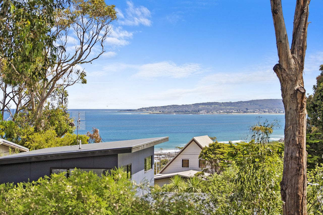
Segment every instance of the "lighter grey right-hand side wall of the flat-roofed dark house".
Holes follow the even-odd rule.
[[[132,180],[136,181],[137,183],[147,180],[151,185],[154,185],[154,164],[152,163],[151,170],[146,172],[144,170],[144,159],[151,155],[154,156],[153,146],[132,153],[118,154],[118,167],[131,163]]]

